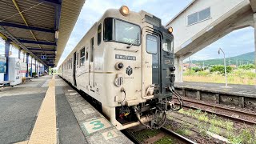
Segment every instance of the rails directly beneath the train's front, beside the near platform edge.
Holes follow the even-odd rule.
[[[177,139],[178,143],[196,144],[196,142],[193,142],[190,139],[183,137],[181,134],[175,133],[173,130],[167,129],[166,127],[162,127],[160,128],[160,130],[161,130],[160,135],[162,135],[162,137],[169,135],[170,137]],[[144,142],[138,141],[138,139],[135,138],[134,135],[131,134],[128,130],[122,130],[122,133],[125,134],[127,138],[130,138],[130,140],[135,144],[151,143],[151,142],[148,142],[148,140],[145,140]],[[157,136],[154,136],[154,137],[157,137]],[[156,139],[159,140],[161,138],[156,138]]]

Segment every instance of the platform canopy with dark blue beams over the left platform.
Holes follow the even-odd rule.
[[[57,66],[84,2],[0,0],[0,36],[44,65]]]

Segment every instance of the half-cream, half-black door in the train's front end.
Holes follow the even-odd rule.
[[[142,66],[143,93],[142,98],[150,98],[161,93],[161,36],[156,30],[142,30]]]

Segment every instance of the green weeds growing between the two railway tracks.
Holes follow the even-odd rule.
[[[234,128],[234,122],[230,122],[229,120],[220,118],[214,114],[204,113],[201,110],[182,109],[179,110],[178,113],[196,118],[198,123],[195,123],[195,126],[197,126],[198,133],[201,134],[202,137],[209,137],[206,134],[206,131],[208,130],[214,134],[226,136],[231,143],[256,144],[256,126],[249,127],[244,125],[242,129],[237,130]],[[185,127],[177,131],[184,135],[190,135],[187,134],[189,127],[186,129]]]

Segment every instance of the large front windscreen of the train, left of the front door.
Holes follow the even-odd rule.
[[[114,18],[104,21],[104,40],[140,45],[140,27]]]

